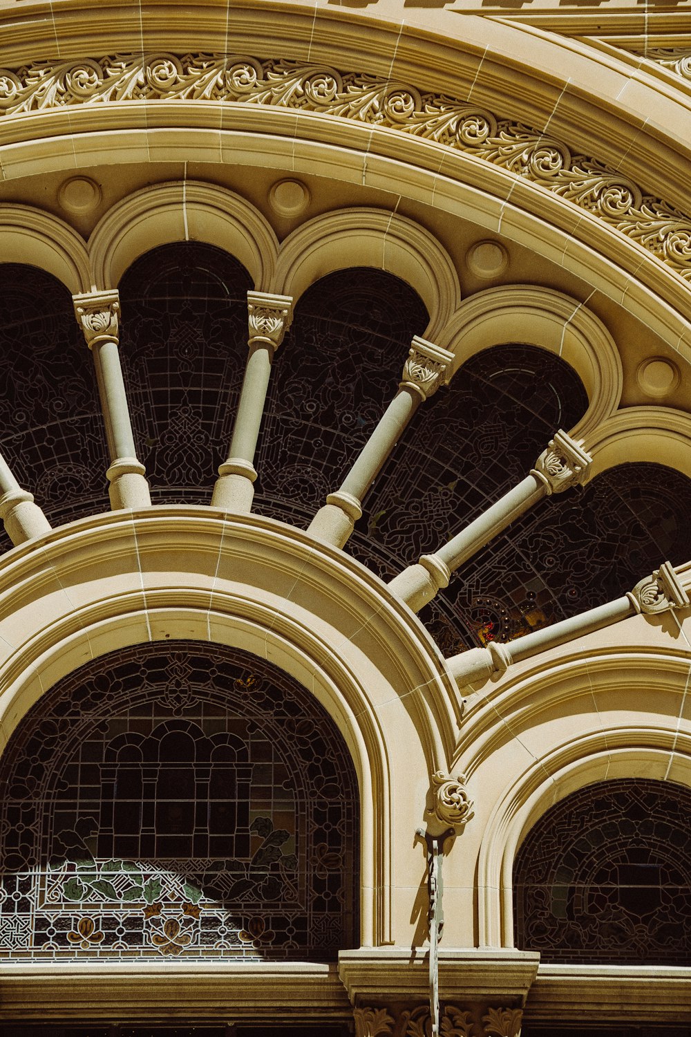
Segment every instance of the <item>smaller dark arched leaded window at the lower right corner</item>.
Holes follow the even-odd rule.
[[[543,961],[691,964],[691,790],[574,792],[529,832],[514,891],[516,945]]]

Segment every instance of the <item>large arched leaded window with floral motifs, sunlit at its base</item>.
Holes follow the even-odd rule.
[[[249,652],[138,645],[65,677],[0,768],[0,957],[333,959],[356,942],[352,761]]]

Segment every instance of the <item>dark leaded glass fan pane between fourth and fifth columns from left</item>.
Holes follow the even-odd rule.
[[[558,357],[529,345],[478,354],[414,415],[349,550],[390,579],[516,485],[554,431],[586,409],[578,375]],[[458,620],[450,605],[441,614]]]

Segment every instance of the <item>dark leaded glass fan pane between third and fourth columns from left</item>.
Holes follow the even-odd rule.
[[[413,289],[383,271],[339,271],[308,288],[273,363],[257,511],[310,524],[395,395],[428,319]]]

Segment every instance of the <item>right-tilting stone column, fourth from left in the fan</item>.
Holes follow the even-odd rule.
[[[423,400],[451,377],[454,355],[415,336],[403,380],[340,489],[329,494],[308,529],[315,539],[343,548],[362,517],[362,503],[403,430]]]

